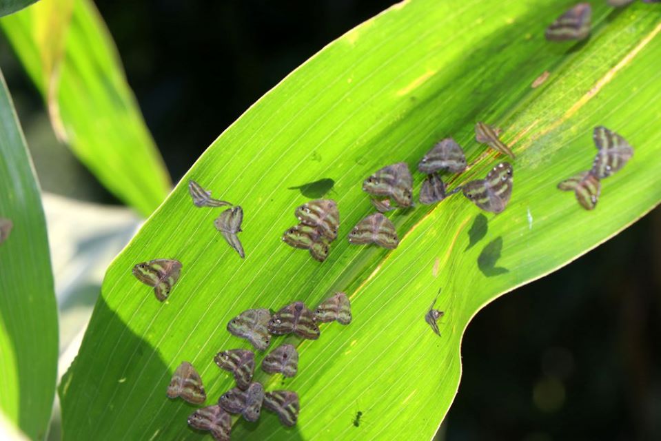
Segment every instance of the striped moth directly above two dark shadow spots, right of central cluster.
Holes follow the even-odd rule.
[[[512,166],[500,163],[485,179],[471,181],[462,187],[464,196],[485,212],[500,213],[512,195]]]

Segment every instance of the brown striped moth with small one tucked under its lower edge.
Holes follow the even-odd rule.
[[[413,178],[407,163],[396,163],[378,170],[363,181],[363,191],[374,196],[390,196],[400,207],[413,203]]]

